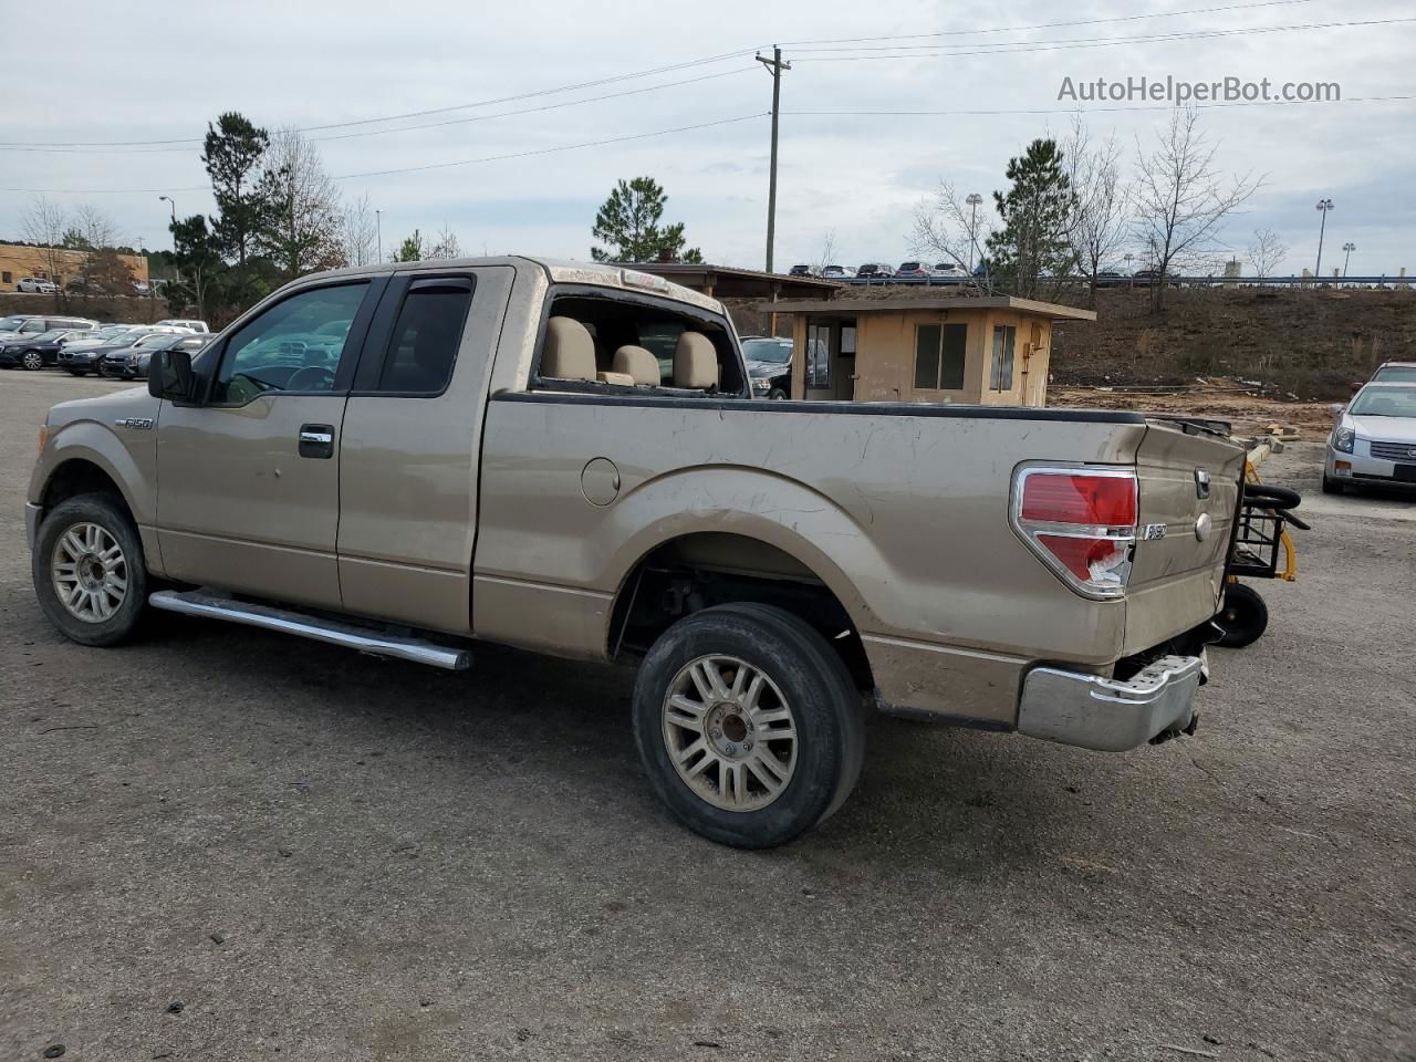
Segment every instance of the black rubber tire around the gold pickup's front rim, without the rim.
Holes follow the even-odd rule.
[[[59,538],[79,524],[96,524],[103,528],[122,549],[123,575],[127,586],[122,602],[113,615],[93,622],[75,616],[59,600],[54,585],[52,561]],[[143,558],[143,542],[137,528],[129,518],[122,503],[106,494],[79,494],[61,501],[45,514],[40,524],[40,535],[30,558],[30,572],[40,607],[50,623],[71,641],[82,646],[116,646],[133,636],[147,605],[147,566]]]

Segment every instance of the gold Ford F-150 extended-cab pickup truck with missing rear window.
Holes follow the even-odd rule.
[[[670,811],[780,844],[879,711],[1123,750],[1194,728],[1240,498],[1214,425],[753,399],[715,300],[487,258],[296,280],[147,389],[50,411],[34,588],[466,668],[636,664]]]

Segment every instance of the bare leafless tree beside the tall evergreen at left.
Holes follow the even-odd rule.
[[[287,278],[346,263],[338,188],[317,149],[303,133],[280,129],[266,150],[266,173],[278,188],[279,210],[259,245]]]

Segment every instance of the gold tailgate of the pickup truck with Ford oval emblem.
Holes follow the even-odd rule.
[[[1123,653],[1138,653],[1219,609],[1245,450],[1231,439],[1148,421],[1136,453],[1140,530]]]

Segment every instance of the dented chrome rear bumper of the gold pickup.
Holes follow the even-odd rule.
[[[1195,718],[1195,691],[1209,675],[1205,654],[1161,657],[1130,681],[1037,667],[1022,681],[1018,731],[1100,752],[1126,752]]]

